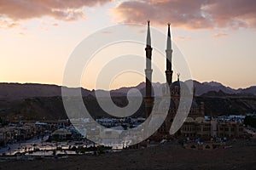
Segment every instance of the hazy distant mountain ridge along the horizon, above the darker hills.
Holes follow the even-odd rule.
[[[210,91],[218,92],[221,90],[224,94],[253,94],[256,95],[256,86],[249,88],[233,89],[226,87],[220,82],[197,82],[195,80],[188,80],[185,82],[193,81],[195,88],[195,95],[200,96]],[[165,87],[165,83],[153,82],[154,94],[162,95],[162,89]],[[81,88],[83,96],[93,95],[97,93],[100,97],[107,97],[110,93],[111,96],[125,96],[131,88],[137,88],[143,96],[145,96],[145,82],[139,83],[135,87],[124,87],[109,91],[106,90],[88,90]],[[131,91],[131,95],[137,96],[136,91]],[[34,97],[53,97],[61,96],[61,86],[49,85],[49,84],[37,84],[37,83],[0,83],[0,100],[16,100],[27,99]]]

